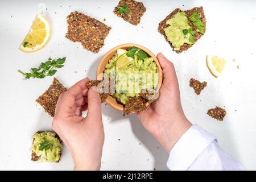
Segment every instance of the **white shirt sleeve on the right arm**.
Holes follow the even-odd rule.
[[[167,162],[170,170],[245,170],[218,145],[216,137],[197,125],[177,141]]]

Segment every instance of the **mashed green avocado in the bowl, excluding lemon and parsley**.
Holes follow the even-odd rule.
[[[115,76],[115,93],[111,93],[111,96],[125,105],[129,97],[138,97],[142,90],[156,87],[158,74],[155,73],[158,73],[158,67],[152,57],[146,56],[142,59],[135,53],[134,58],[129,57],[129,64],[116,70],[117,60],[121,56],[115,53],[109,64],[106,64],[104,73]]]

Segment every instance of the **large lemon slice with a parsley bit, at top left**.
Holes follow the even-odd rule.
[[[38,51],[46,46],[50,36],[51,26],[49,21],[43,14],[38,14],[19,49],[24,52]]]

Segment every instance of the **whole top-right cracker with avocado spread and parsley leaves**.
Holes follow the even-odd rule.
[[[203,7],[183,11],[175,9],[162,22],[158,31],[174,51],[181,53],[192,47],[204,35],[206,19]]]

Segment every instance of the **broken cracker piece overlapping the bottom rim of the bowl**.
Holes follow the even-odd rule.
[[[132,113],[137,113],[138,111],[144,111],[146,109],[146,103],[144,102],[143,98],[130,97],[129,100],[126,102],[123,113],[128,115]]]

